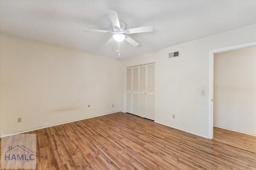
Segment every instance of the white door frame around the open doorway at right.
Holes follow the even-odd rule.
[[[246,43],[241,45],[234,45],[231,47],[225,47],[220,49],[214,49],[209,51],[209,124],[208,124],[208,138],[213,139],[213,73],[214,73],[214,54],[225,51],[232,51],[236,49],[243,49],[248,47],[255,47],[256,42]]]

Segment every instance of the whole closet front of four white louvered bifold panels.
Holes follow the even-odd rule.
[[[126,112],[155,119],[155,64],[127,68]]]

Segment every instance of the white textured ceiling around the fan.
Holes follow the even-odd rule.
[[[153,32],[129,36],[121,55],[110,33],[107,10],[118,13],[127,29],[151,25]],[[0,31],[114,58],[125,58],[256,23],[256,0],[246,1],[78,1],[0,0]],[[110,39],[111,38],[111,39]]]

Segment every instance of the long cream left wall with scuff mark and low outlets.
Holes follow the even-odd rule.
[[[0,133],[120,111],[120,70],[118,59],[1,34]]]

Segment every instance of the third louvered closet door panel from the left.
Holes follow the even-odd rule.
[[[139,78],[139,116],[146,116],[146,65],[140,66]]]

